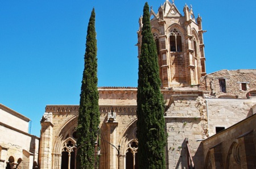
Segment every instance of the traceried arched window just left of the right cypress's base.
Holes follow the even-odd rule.
[[[138,142],[130,142],[126,151],[126,169],[138,169],[138,156],[136,155],[138,150]]]

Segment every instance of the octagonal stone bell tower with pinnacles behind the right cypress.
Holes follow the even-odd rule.
[[[192,6],[183,8],[184,16],[177,10],[174,0],[164,2],[154,12],[151,7],[151,31],[158,51],[162,87],[191,86],[199,84],[206,74],[202,19],[193,14]],[[138,52],[141,53],[142,16],[139,18]]]

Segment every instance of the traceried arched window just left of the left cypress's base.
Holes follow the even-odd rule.
[[[61,153],[61,169],[75,169],[75,143],[68,140],[64,143]]]

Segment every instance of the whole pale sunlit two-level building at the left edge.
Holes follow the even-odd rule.
[[[28,134],[30,119],[0,104],[0,168],[38,167],[39,138]]]

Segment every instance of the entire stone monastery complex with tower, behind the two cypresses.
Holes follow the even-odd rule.
[[[166,0],[150,14],[166,100],[166,168],[256,168],[256,70],[207,74],[205,31],[192,6],[185,5],[181,15]],[[138,54],[142,27],[141,17]],[[98,91],[97,167],[138,168],[137,88]],[[47,105],[38,138],[28,134],[27,117],[0,104],[0,168],[75,168],[78,110],[79,105]]]

